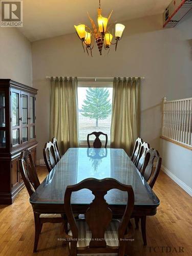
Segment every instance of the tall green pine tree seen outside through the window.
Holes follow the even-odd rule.
[[[109,90],[105,88],[89,88],[86,92],[81,114],[90,119],[95,119],[95,126],[98,127],[98,120],[106,119],[111,114]]]

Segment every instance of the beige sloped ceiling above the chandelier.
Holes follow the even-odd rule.
[[[87,11],[97,18],[98,0],[23,0],[24,27],[19,30],[36,41],[74,33],[73,25],[90,26]],[[111,22],[163,13],[170,0],[102,0],[103,16],[114,12]]]

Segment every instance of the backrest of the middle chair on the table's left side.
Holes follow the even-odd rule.
[[[44,149],[44,160],[48,169],[48,172],[50,173],[55,164],[57,163],[55,151],[54,151],[54,145],[51,141],[45,143]]]

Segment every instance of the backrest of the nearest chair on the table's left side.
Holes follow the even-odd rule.
[[[40,185],[40,182],[36,173],[31,152],[29,150],[25,150],[20,153],[19,170],[28,190],[29,196],[31,196]]]

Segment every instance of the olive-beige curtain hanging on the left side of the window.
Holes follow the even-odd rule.
[[[50,87],[50,139],[56,137],[63,154],[78,147],[77,77],[51,77]]]

